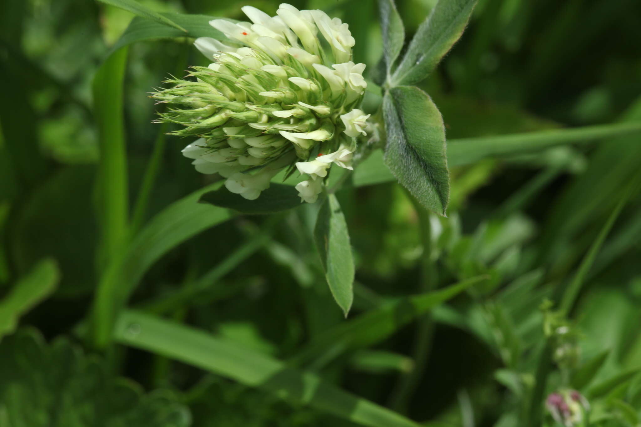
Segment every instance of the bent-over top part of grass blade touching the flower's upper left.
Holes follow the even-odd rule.
[[[215,17],[207,15],[183,15],[182,13],[161,13],[161,15],[187,29],[187,34],[179,29],[159,24],[154,20],[135,17],[131,20],[131,23],[129,23],[129,26],[121,38],[113,45],[112,52],[134,42],[154,40],[157,38],[187,36],[192,38],[212,37],[217,40],[228,40],[220,31],[210,26],[209,21],[216,19]]]

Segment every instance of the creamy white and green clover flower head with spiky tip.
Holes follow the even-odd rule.
[[[198,172],[226,178],[229,191],[254,200],[288,168],[287,175],[308,175],[296,189],[313,203],[332,164],[352,169],[355,138],[365,135],[369,115],[358,109],[365,64],[351,61],[347,24],[320,10],[283,3],[274,17],[251,6],[242,11],[251,22],[210,21],[229,42],[194,42],[208,67],[153,93],[169,104],[159,121],[199,138],[183,155]]]

